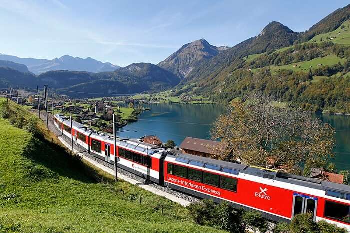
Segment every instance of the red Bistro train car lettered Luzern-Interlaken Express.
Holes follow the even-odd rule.
[[[290,222],[304,212],[350,230],[350,186],[210,158],[167,155],[164,185],[264,217]]]

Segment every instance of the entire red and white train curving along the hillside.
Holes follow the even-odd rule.
[[[55,126],[88,152],[114,164],[114,139],[55,115]],[[350,186],[170,151],[135,139],[117,138],[117,166],[157,184],[236,208],[258,210],[268,219],[290,222],[312,212],[350,231]]]

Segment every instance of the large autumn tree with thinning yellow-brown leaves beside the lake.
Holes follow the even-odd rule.
[[[212,157],[266,168],[298,172],[300,164],[326,165],[333,156],[334,129],[310,113],[280,107],[270,95],[251,93],[232,101],[211,130],[213,139],[221,139],[212,148]]]

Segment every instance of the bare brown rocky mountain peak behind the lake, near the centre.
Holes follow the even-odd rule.
[[[179,50],[171,54],[164,61],[161,61],[158,66],[183,79],[202,61],[208,60],[219,54],[219,52],[227,50],[228,48],[228,46],[213,46],[205,39],[195,40],[191,43],[183,45]]]

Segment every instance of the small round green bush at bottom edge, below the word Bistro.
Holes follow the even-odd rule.
[[[242,223],[244,228],[248,227],[256,232],[266,232],[267,231],[267,221],[261,216],[258,211],[245,211],[242,214]]]

